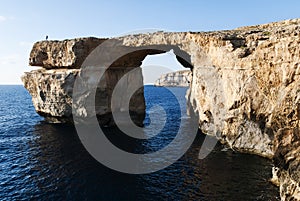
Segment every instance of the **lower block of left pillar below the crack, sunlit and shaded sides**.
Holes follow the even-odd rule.
[[[96,95],[93,91],[85,88],[88,86],[90,79],[80,79],[82,73],[80,69],[39,69],[25,73],[22,77],[25,88],[32,96],[33,105],[41,116],[49,122],[73,122],[73,114],[82,116],[82,118],[92,118],[94,112],[101,125],[114,125],[111,111],[111,97],[114,86],[120,78],[126,74],[130,68],[110,68],[105,72],[105,76],[101,79],[101,85],[96,90]],[[142,72],[140,68],[136,69],[136,74],[139,76],[135,79],[123,80],[123,85],[132,84],[141,85]],[[80,87],[83,90],[76,90],[73,93],[75,79],[81,80]],[[73,105],[73,96],[80,97]],[[85,100],[95,95],[94,105],[87,107]],[[122,102],[124,96],[119,97]],[[75,106],[76,110],[73,110]],[[121,107],[121,106],[120,106]],[[119,107],[119,108],[120,108]],[[145,115],[145,100],[143,88],[139,89],[129,104],[129,111],[134,122],[137,125],[142,125]]]

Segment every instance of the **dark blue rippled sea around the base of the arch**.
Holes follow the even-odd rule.
[[[175,90],[184,101],[186,89]],[[120,146],[151,152],[174,138],[180,115],[164,88],[146,87],[145,97],[148,108],[154,102],[167,107],[171,123],[151,142]],[[114,128],[108,132],[119,135]],[[0,86],[0,200],[278,200],[278,189],[268,182],[270,161],[224,151],[220,144],[199,160],[203,139],[199,133],[166,169],[119,173],[95,161],[72,126],[44,122],[22,86]]]

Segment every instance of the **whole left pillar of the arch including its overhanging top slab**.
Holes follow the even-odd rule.
[[[30,53],[29,64],[42,67],[38,70],[25,73],[22,81],[25,88],[32,96],[33,105],[40,115],[49,122],[72,122],[73,87],[76,78],[82,80],[81,86],[85,88],[97,80],[91,76],[84,79],[80,69],[86,57],[106,39],[78,38],[64,41],[41,41],[34,44]],[[121,60],[122,61],[122,60]],[[113,125],[111,111],[111,97],[118,81],[132,67],[108,68],[97,88],[95,106],[86,107],[84,100],[76,103],[76,108],[81,116],[88,118],[96,112],[101,125]],[[124,85],[134,84],[141,86],[143,83],[140,63],[135,64],[135,77],[129,77]],[[100,86],[101,83],[101,86]],[[93,94],[88,90],[79,91],[76,96],[88,98]],[[120,97],[120,101],[122,101]],[[121,106],[119,107],[119,109]],[[145,116],[145,100],[143,88],[139,89],[132,97],[129,112],[137,125],[142,125]]]

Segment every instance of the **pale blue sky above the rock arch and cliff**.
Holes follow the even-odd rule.
[[[0,84],[21,84],[35,41],[112,37],[135,30],[208,31],[300,18],[300,1],[33,1],[0,2]],[[159,59],[157,59],[159,60]],[[168,63],[168,61],[165,61]]]

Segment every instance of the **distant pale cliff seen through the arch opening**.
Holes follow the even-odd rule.
[[[181,70],[161,75],[154,83],[154,86],[166,87],[189,87],[192,81],[192,72],[190,70]]]

